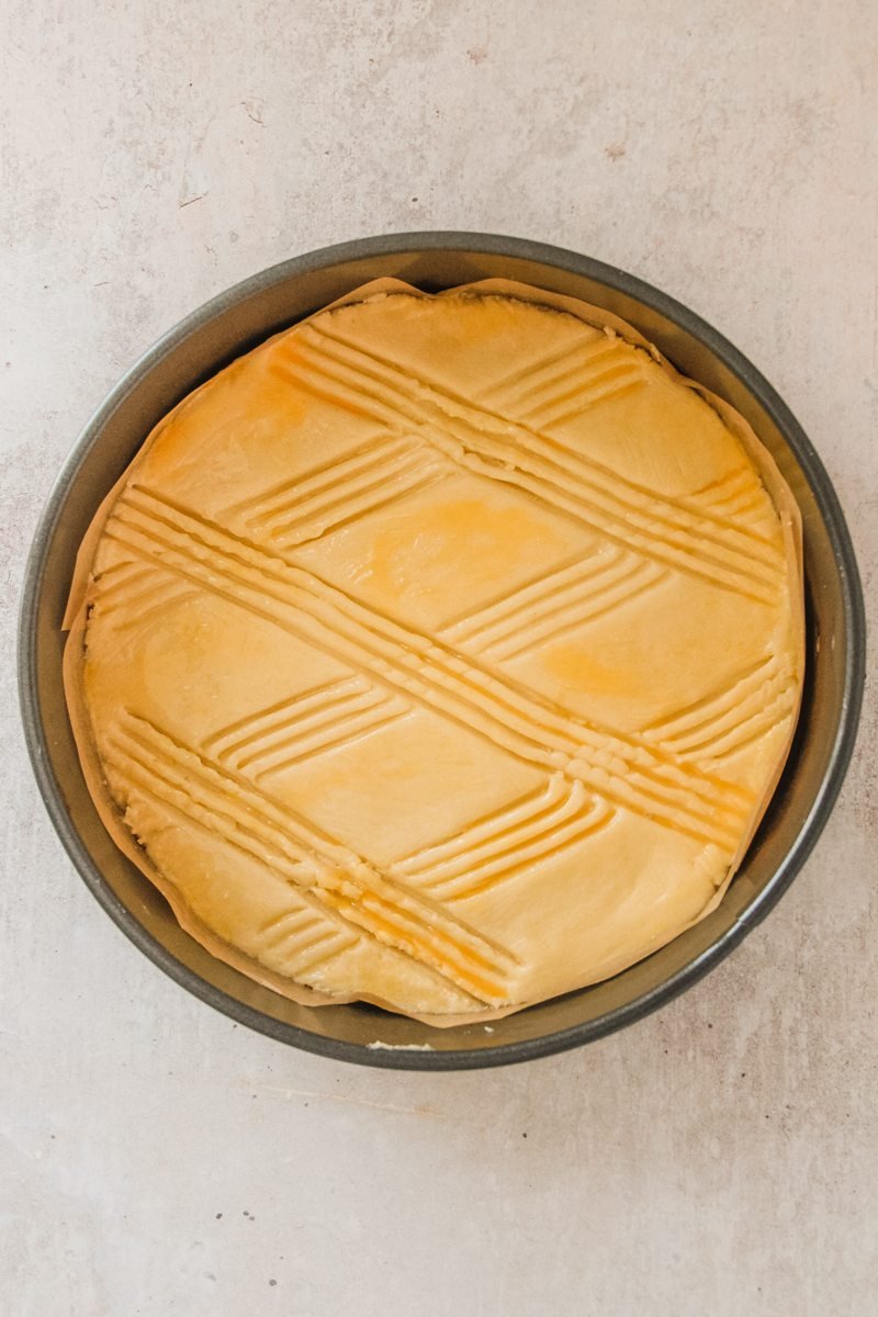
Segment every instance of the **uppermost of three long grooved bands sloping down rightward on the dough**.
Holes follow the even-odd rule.
[[[767,543],[754,541],[741,532],[733,522],[696,514],[645,491],[557,439],[417,379],[396,362],[325,329],[303,329],[296,342],[296,360],[333,385],[376,402],[382,408],[376,416],[390,423],[395,417],[396,427],[400,417],[408,425],[440,423],[452,435],[457,431],[458,439],[462,428],[465,445],[469,433],[469,448],[479,456],[512,460],[520,473],[542,478],[561,473],[562,487],[569,489],[574,482],[590,516],[611,520],[628,532],[638,531],[654,553],[675,551],[679,562],[673,565],[681,569],[686,560],[690,569],[699,569],[699,574],[707,572],[717,585],[725,581],[728,586],[740,577],[745,583],[761,581],[763,589],[777,591],[779,554]]]

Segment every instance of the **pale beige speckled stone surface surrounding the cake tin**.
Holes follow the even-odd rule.
[[[3,645],[79,427],[294,253],[469,228],[687,302],[781,390],[878,566],[874,0],[7,0]],[[873,618],[874,618],[874,608]],[[395,1075],[187,997],[72,873],[0,669],[0,1312],[871,1317],[878,727],[771,918],[659,1015]]]

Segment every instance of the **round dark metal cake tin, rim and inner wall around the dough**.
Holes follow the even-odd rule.
[[[499,1019],[491,1031],[429,1029],[365,1005],[299,1006],[204,951],[104,831],[62,687],[61,622],[76,549],[153,425],[242,352],[380,275],[426,291],[519,279],[631,321],[683,374],[750,421],[792,489],[804,525],[802,714],[779,788],[721,905],[615,979]],[[18,651],[25,734],[46,807],[76,869],[130,940],[183,988],[251,1029],[338,1060],[403,1069],[500,1065],[577,1047],[656,1010],[706,975],[767,914],[817,840],[853,749],[864,666],[862,593],[839,500],[804,432],[750,362],[699,316],[623,270],[538,242],[454,232],[363,238],[295,257],[213,298],[161,338],[91,419],[58,478],[28,564]]]

